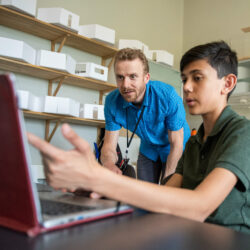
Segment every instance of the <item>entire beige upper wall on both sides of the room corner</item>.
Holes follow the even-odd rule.
[[[38,7],[63,7],[80,15],[80,24],[115,29],[116,40],[138,39],[150,49],[175,55],[197,44],[225,40],[239,57],[250,56],[249,0],[38,0]]]

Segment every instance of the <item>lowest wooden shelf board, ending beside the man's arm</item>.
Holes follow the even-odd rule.
[[[79,117],[34,112],[34,111],[29,111],[29,110],[23,110],[23,114],[24,114],[24,117],[26,118],[34,118],[34,119],[50,120],[50,121],[61,120],[61,122],[67,122],[67,123],[89,125],[89,126],[96,126],[96,127],[105,127],[105,121],[101,121],[101,120],[84,119],[84,118],[79,118]]]

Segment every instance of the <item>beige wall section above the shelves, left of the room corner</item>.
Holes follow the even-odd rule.
[[[63,7],[80,16],[80,24],[97,23],[116,31],[118,39],[137,39],[150,49],[175,55],[178,67],[183,40],[183,0],[38,0],[37,7]]]

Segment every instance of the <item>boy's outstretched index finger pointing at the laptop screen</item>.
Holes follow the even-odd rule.
[[[57,158],[57,156],[60,155],[60,153],[62,153],[61,149],[56,148],[55,146],[42,140],[41,138],[32,133],[27,132],[27,138],[31,145],[33,145],[47,157]]]

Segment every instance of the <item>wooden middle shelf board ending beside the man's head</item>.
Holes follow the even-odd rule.
[[[26,62],[21,62],[5,57],[0,57],[0,69],[4,71],[10,71],[28,76],[33,76],[45,80],[53,80],[58,77],[66,76],[66,79],[63,81],[64,84],[74,85],[78,87],[94,89],[104,92],[109,92],[111,90],[116,89],[116,85],[108,82],[72,75],[66,72],[40,67],[37,65],[32,65]]]

